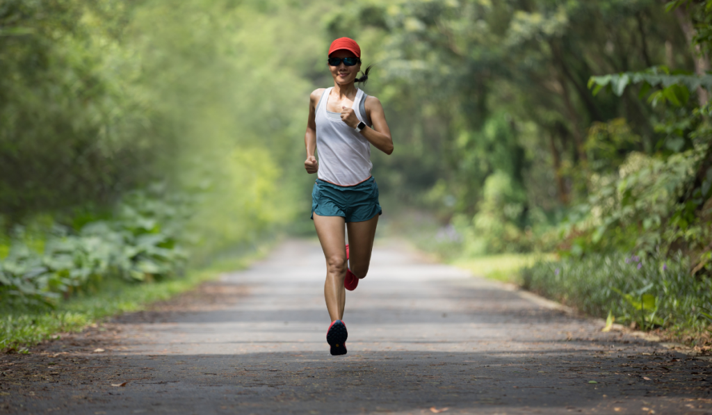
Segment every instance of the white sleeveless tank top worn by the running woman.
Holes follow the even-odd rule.
[[[343,122],[338,113],[326,110],[333,88],[327,88],[316,105],[317,177],[339,186],[353,186],[371,177],[371,143]],[[359,107],[363,96],[363,91],[357,88],[352,108]],[[361,120],[359,111],[355,110],[355,114],[366,122]]]

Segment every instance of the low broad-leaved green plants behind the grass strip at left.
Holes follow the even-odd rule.
[[[90,221],[77,231],[56,227],[43,252],[16,235],[0,261],[0,300],[54,303],[60,294],[96,289],[110,278],[159,280],[180,272],[186,256],[177,244],[184,214],[176,200],[149,199],[133,193],[109,221]]]

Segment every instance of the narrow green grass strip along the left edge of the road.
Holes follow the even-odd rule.
[[[56,338],[59,332],[79,332],[105,317],[142,310],[150,303],[192,290],[220,273],[244,269],[267,251],[268,246],[260,246],[251,253],[189,270],[183,277],[153,283],[112,278],[96,292],[76,295],[54,308],[0,305],[0,350],[26,352],[27,347]]]

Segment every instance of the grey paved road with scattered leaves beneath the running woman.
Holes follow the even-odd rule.
[[[0,412],[712,413],[709,363],[395,245],[347,295],[345,357],[325,342],[320,248],[288,241],[153,311],[2,357]]]

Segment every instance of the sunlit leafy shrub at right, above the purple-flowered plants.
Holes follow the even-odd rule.
[[[661,159],[632,153],[619,172],[593,176],[588,202],[576,206],[563,226],[571,243],[564,253],[580,256],[615,249],[666,253],[681,237],[674,226],[685,206],[679,199],[702,155],[690,150]],[[694,224],[700,238],[708,237],[705,224]]]

